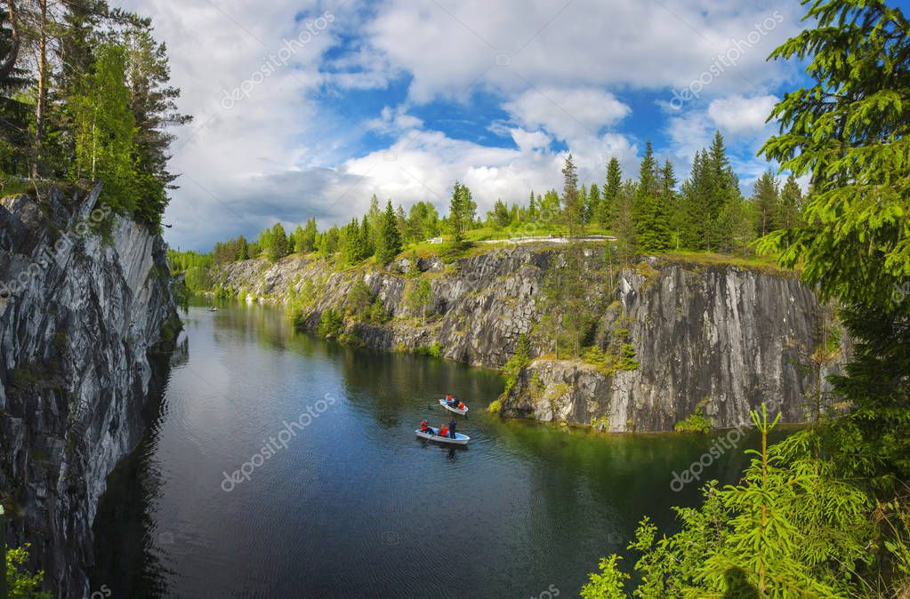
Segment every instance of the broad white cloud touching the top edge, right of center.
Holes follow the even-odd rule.
[[[478,88],[515,95],[529,85],[682,88],[738,45],[735,67],[711,85],[722,94],[779,78],[785,67],[764,58],[798,29],[800,15],[779,0],[390,0],[366,31],[390,65],[413,75],[418,103]],[[764,35],[743,44],[756,24]]]

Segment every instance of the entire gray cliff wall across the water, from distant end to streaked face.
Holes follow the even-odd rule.
[[[402,259],[384,270],[342,272],[290,256],[274,265],[227,265],[217,278],[249,301],[287,302],[293,289],[304,306],[300,322],[313,330],[324,310],[343,309],[362,276],[393,318],[349,323],[361,343],[404,351],[439,343],[442,357],[499,368],[520,334],[530,335],[533,355],[552,351],[539,324],[548,310],[546,273],[562,264],[562,251],[524,246],[450,265]],[[504,398],[503,414],[582,424],[606,417],[612,431],[663,431],[699,404],[716,425],[736,426],[748,422],[751,408],[774,400],[785,420],[803,420],[809,382],[795,363],[798,348],[817,343],[814,322],[822,308],[798,279],[682,259],[611,269],[602,251],[589,248],[585,255],[593,342],[606,347],[617,326],[627,328],[639,367],[606,376],[580,361],[536,362]],[[415,266],[432,287],[426,325],[407,301],[412,278],[405,273],[415,275]],[[534,374],[543,388],[531,393]]]

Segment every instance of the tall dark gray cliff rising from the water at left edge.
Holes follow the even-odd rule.
[[[89,594],[98,497],[179,327],[166,245],[100,192],[0,202],[0,501],[61,597]]]

